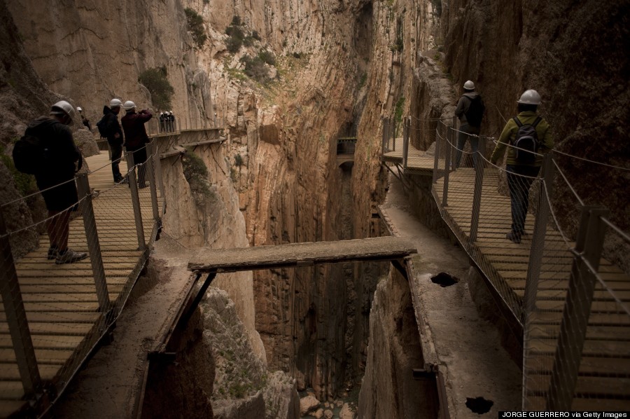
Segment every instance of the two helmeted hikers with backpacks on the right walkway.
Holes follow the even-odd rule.
[[[512,226],[505,238],[520,243],[525,234],[525,218],[529,207],[529,188],[540,172],[542,156],[551,151],[554,142],[549,124],[538,116],[540,95],[535,90],[525,90],[517,100],[517,116],[505,123],[490,156],[496,165],[507,148],[505,172],[510,190]],[[463,95],[457,102],[455,115],[459,118],[459,132],[455,153],[455,167],[461,163],[461,153],[466,141],[470,142],[472,166],[479,164],[479,132],[484,115],[484,102],[475,91],[475,83],[468,80],[463,84]],[[509,147],[508,147],[509,146]]]

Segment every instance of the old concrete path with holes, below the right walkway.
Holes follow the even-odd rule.
[[[394,233],[414,242],[412,259],[416,317],[426,323],[427,338],[435,348],[438,369],[444,377],[451,418],[496,418],[497,411],[521,407],[521,371],[500,343],[493,324],[479,317],[470,297],[468,256],[460,247],[440,238],[412,214],[398,179],[391,186],[381,211]],[[438,273],[458,278],[449,287],[431,281]],[[472,269],[470,270],[472,274]],[[467,398],[493,401],[490,411],[479,415],[466,407]]]

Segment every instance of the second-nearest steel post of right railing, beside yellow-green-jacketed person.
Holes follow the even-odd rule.
[[[531,249],[529,250],[529,262],[525,277],[525,310],[521,314],[521,321],[527,324],[527,317],[535,310],[536,291],[538,289],[538,277],[542,265],[542,254],[545,250],[545,236],[547,235],[547,219],[549,219],[549,205],[547,199],[553,196],[554,186],[554,165],[551,153],[547,153],[542,160],[542,179],[538,183],[538,208],[536,209],[536,219],[534,231],[531,239]]]

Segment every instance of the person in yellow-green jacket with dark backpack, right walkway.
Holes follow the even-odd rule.
[[[496,165],[503,157],[505,147],[511,145],[507,150],[505,170],[512,205],[512,228],[505,238],[514,243],[520,243],[524,235],[529,188],[540,171],[542,155],[554,146],[549,124],[536,114],[540,104],[538,92],[526,90],[517,104],[518,116],[507,121],[490,157],[490,163]]]

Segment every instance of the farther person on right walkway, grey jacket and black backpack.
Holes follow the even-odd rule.
[[[463,95],[459,98],[455,109],[455,116],[459,118],[455,168],[458,168],[461,163],[461,152],[467,139],[470,141],[470,151],[472,151],[472,167],[476,167],[477,150],[479,149],[479,137],[477,135],[481,131],[481,122],[486,109],[481,95],[475,92],[475,83],[470,80],[466,81],[463,90]]]

